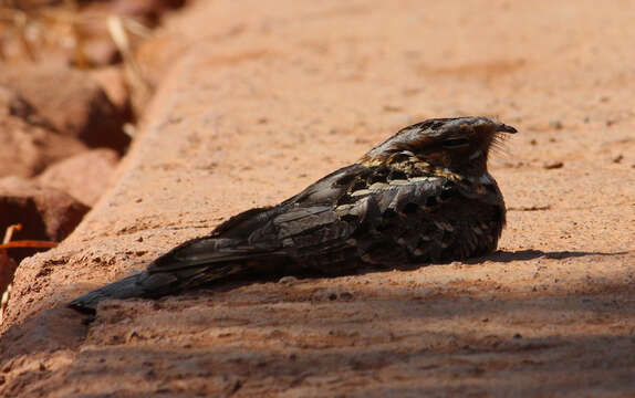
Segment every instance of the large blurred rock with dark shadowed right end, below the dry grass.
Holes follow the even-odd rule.
[[[119,153],[129,143],[125,118],[89,73],[50,64],[7,65],[0,84],[19,93],[61,135]]]

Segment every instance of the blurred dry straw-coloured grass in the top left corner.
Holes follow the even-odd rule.
[[[94,40],[111,40],[123,61],[125,80],[133,106],[143,108],[154,93],[153,85],[135,56],[137,39],[152,30],[133,18],[106,10],[82,10],[76,0],[62,6],[19,9],[0,0],[0,60],[39,62],[50,55],[71,52],[79,69],[91,69],[90,45]],[[53,56],[54,59],[54,56]]]

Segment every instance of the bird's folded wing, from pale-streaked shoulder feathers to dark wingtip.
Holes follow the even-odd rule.
[[[277,207],[246,211],[173,249],[147,271],[272,260],[337,272],[353,259],[384,265],[439,259],[454,234],[437,214],[466,199],[459,187],[443,176],[391,179],[381,167],[340,169]]]

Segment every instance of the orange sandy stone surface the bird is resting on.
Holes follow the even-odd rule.
[[[7,397],[635,395],[635,3],[199,1],[116,186],[25,260]],[[169,62],[168,62],[169,61]],[[166,67],[169,64],[170,67]],[[500,251],[413,271],[64,304],[428,117],[519,134]]]

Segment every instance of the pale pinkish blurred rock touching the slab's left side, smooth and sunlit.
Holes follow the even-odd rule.
[[[117,161],[113,149],[89,150],[52,165],[38,180],[92,207],[110,187]]]

